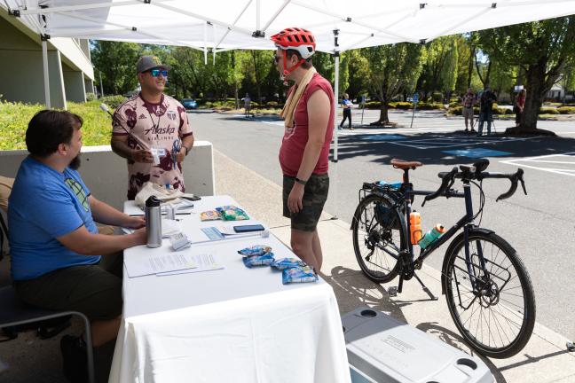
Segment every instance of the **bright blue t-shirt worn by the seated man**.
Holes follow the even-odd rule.
[[[59,173],[31,157],[22,161],[8,200],[12,279],[99,262],[99,255],[77,254],[56,239],[82,225],[98,232],[88,196],[77,171]]]

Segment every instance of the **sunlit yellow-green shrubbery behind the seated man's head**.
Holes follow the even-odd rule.
[[[83,145],[109,145],[112,119],[99,108],[100,101],[68,102],[68,110],[83,118]],[[26,149],[26,129],[43,105],[0,102],[0,150]]]

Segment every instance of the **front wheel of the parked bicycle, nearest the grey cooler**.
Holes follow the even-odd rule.
[[[524,263],[493,232],[471,232],[469,259],[464,237],[454,240],[445,254],[445,299],[455,325],[484,356],[516,355],[535,324],[535,295]]]

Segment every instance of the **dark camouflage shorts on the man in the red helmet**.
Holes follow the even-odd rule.
[[[291,219],[291,228],[298,231],[315,231],[319,216],[327,200],[329,176],[311,175],[303,191],[303,209],[299,213],[290,213],[288,209],[289,192],[294,187],[295,177],[284,176],[283,215]]]

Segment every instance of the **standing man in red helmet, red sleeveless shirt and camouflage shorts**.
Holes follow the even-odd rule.
[[[317,225],[329,189],[327,157],[334,131],[334,92],[311,64],[315,38],[291,27],[272,35],[275,64],[283,80],[294,82],[281,112],[285,122],[280,148],[283,215],[291,219],[291,247],[319,271],[322,263]]]

